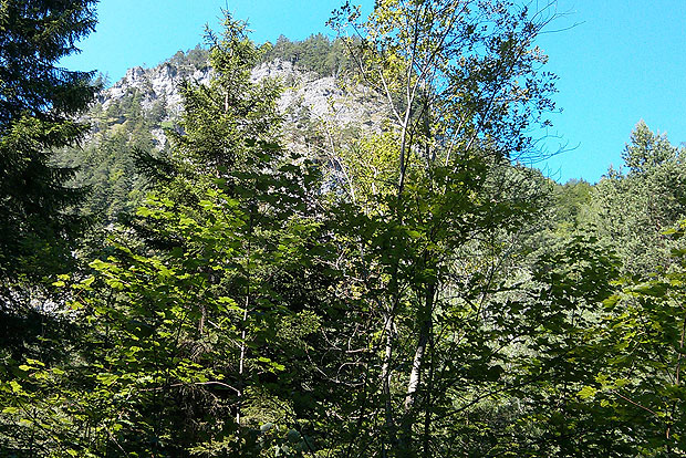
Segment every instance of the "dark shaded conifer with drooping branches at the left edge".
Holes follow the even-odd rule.
[[[0,6],[0,279],[40,277],[69,259],[82,190],[51,164],[87,126],[75,121],[97,87],[58,66],[95,27],[96,0],[9,0]],[[7,300],[7,291],[0,293]]]

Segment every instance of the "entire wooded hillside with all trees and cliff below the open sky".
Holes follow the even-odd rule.
[[[104,89],[94,3],[0,6],[0,457],[686,456],[686,152],[523,165],[553,10],[227,14]]]

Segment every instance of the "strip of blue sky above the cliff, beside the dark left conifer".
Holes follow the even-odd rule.
[[[82,53],[63,61],[79,70],[107,73],[112,82],[136,65],[154,66],[202,42],[205,24],[220,30],[221,10],[247,20],[257,42],[283,34],[300,40],[333,32],[325,22],[343,0],[101,0],[95,33],[80,43]],[[373,0],[362,0],[367,10]]]

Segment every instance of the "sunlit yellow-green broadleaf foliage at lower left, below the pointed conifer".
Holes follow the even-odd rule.
[[[316,225],[299,218],[280,230],[256,228],[250,207],[221,190],[200,205],[194,219],[169,199],[148,200],[138,216],[176,247],[148,254],[114,242],[111,256],[91,263],[93,275],[73,285],[71,314],[85,333],[77,357],[43,375],[20,366],[27,383],[4,386],[12,402],[3,421],[27,428],[13,449],[51,456],[69,441],[79,456],[253,456],[279,443],[256,433],[273,415],[259,405],[264,395],[279,404],[278,379],[291,365],[283,355],[319,324],[288,301],[288,282],[266,280],[308,263],[301,240]]]

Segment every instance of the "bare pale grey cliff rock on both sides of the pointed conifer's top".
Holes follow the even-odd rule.
[[[208,84],[210,76],[211,70],[207,65],[189,65],[174,59],[153,69],[136,66],[129,69],[112,87],[103,91],[97,104],[106,112],[116,104],[126,104],[133,97],[139,103],[144,116],[162,111],[162,115],[153,116],[153,124],[156,125],[152,129],[156,145],[162,148],[166,142],[162,125],[181,112],[179,85],[185,81]],[[262,63],[252,71],[253,81],[263,79],[274,79],[283,87],[278,107],[284,117],[291,146],[303,146],[305,140],[298,138],[299,131],[302,131],[299,126],[303,124],[309,129],[319,126],[326,131],[332,127],[381,131],[383,101],[361,85],[343,87],[333,76],[322,76],[279,59]],[[126,121],[125,117],[122,121]]]

